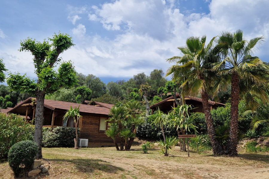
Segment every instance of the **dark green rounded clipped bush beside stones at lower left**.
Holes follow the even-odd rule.
[[[36,157],[38,146],[33,141],[20,141],[15,143],[8,152],[8,163],[15,176],[22,170],[30,169]]]

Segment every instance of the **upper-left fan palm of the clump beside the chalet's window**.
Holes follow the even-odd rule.
[[[113,107],[110,109],[109,113],[110,118],[107,121],[111,121],[112,123],[116,123],[118,125],[118,131],[123,129],[123,122],[127,118],[126,109],[123,106]],[[120,150],[123,150],[123,141],[124,138],[120,139]]]

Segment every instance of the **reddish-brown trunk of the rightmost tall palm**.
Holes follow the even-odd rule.
[[[231,121],[230,133],[226,145],[229,155],[237,156],[237,132],[238,132],[238,104],[239,104],[239,77],[236,73],[232,74],[231,87]]]

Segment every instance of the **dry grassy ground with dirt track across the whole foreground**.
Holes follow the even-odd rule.
[[[133,151],[116,151],[115,147],[43,148],[43,157],[51,163],[47,174],[36,178],[81,179],[81,178],[269,178],[269,153],[245,153],[239,157],[214,157],[210,152],[198,155],[195,151],[173,150],[164,157],[158,148],[143,154],[141,146]],[[47,163],[44,161],[44,163]],[[0,161],[0,178],[14,178],[7,161]]]

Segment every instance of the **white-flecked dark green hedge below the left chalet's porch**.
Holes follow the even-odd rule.
[[[74,138],[76,138],[74,127],[46,128],[43,129],[42,146],[74,147]]]

